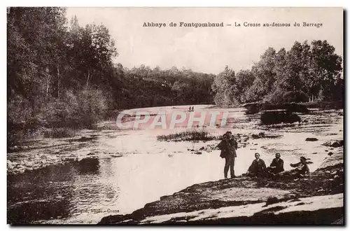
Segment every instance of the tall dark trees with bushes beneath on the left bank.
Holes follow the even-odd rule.
[[[64,8],[10,8],[8,128],[88,127],[111,102],[114,41]]]

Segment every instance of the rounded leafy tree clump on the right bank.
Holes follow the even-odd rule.
[[[327,41],[295,41],[290,50],[268,48],[251,69],[228,66],[216,76],[214,101],[221,106],[249,102],[343,101],[342,57]]]

